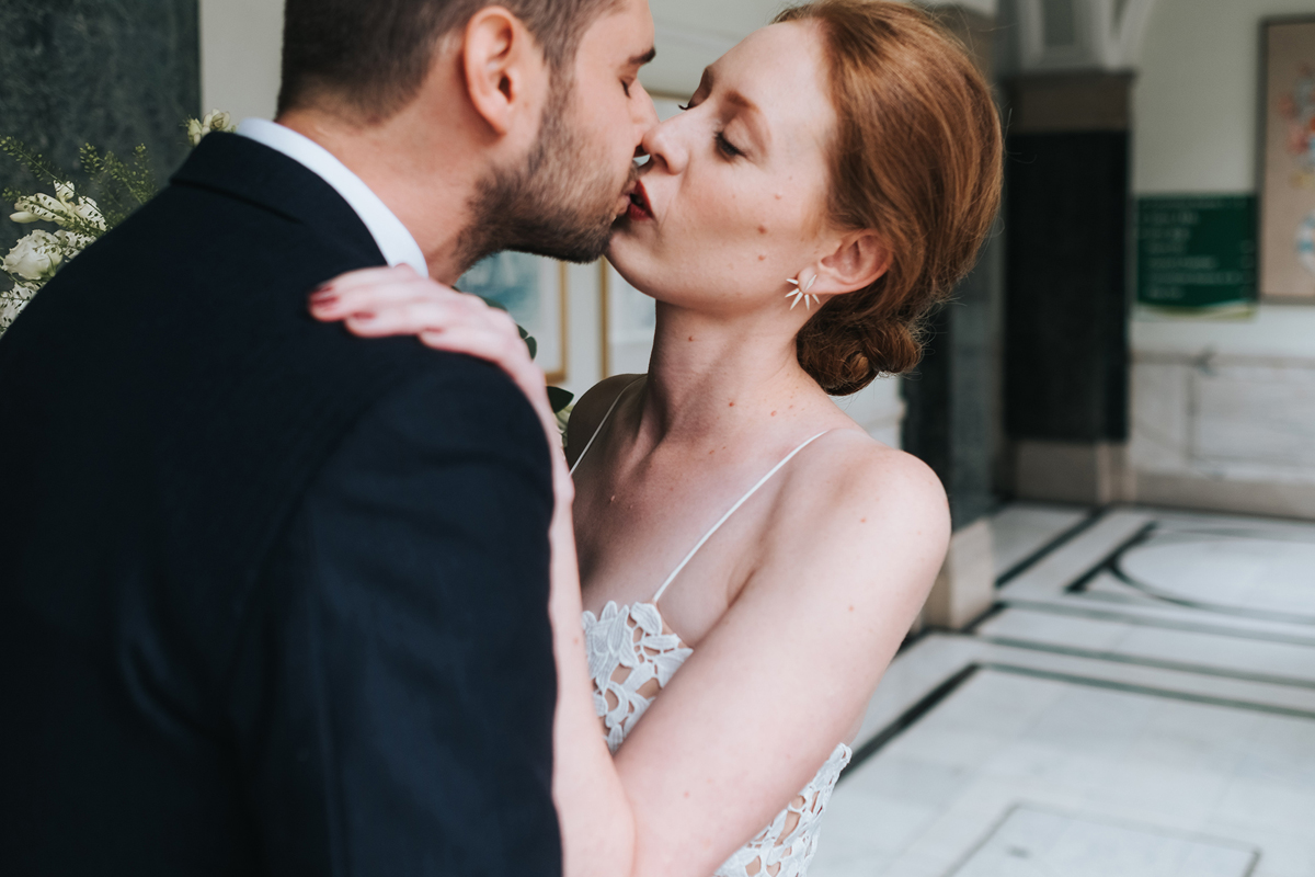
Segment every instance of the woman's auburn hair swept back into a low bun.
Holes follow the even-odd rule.
[[[1002,135],[990,87],[927,13],[888,0],[815,0],[776,22],[815,24],[831,103],[828,220],[871,229],[890,255],[867,289],[835,296],[797,338],[834,396],[922,358],[922,323],[972,270],[999,209]]]

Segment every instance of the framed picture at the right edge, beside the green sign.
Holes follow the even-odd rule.
[[[1260,295],[1315,304],[1315,16],[1260,25]]]

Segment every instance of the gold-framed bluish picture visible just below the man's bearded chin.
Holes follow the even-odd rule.
[[[525,252],[498,252],[456,283],[462,292],[496,301],[534,337],[535,362],[550,384],[567,379],[567,266]]]

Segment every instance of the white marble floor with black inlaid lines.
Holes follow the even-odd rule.
[[[1014,505],[892,664],[813,877],[1315,877],[1315,523]]]

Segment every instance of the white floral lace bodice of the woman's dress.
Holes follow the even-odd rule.
[[[615,755],[658,690],[693,655],[668,631],[655,604],[584,613],[594,710]],[[740,847],[713,877],[803,877],[817,852],[818,827],[840,772],[853,753],[839,744],[813,781],[753,840]]]

